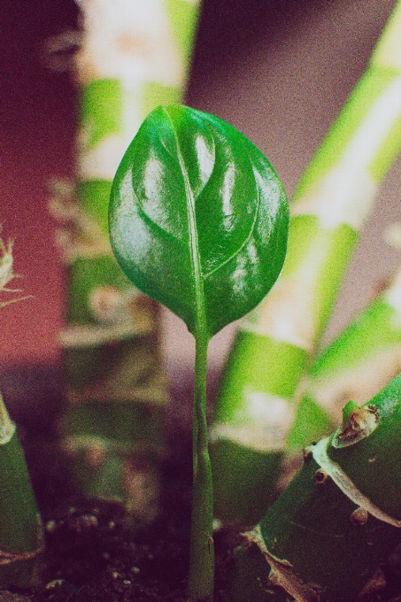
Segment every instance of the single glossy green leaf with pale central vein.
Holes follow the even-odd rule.
[[[266,157],[235,127],[184,106],[150,112],[112,185],[120,266],[194,335],[213,336],[266,296],[288,222]]]

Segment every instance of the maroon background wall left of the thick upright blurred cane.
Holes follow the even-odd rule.
[[[24,276],[12,284],[34,296],[1,311],[2,364],[58,355],[62,274],[46,182],[72,174],[75,91],[66,73],[45,69],[41,54],[46,36],[73,27],[76,16],[72,1],[1,3],[0,222]]]

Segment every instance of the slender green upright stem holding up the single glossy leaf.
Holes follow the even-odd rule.
[[[207,345],[205,336],[196,336],[189,560],[189,596],[193,600],[212,599],[214,575],[212,469],[206,424]]]

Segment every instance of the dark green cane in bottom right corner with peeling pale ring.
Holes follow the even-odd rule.
[[[400,420],[401,375],[362,407],[344,406],[342,427],[307,448],[297,476],[246,534],[266,560],[252,565],[237,551],[248,583],[269,579],[298,602],[351,602],[383,588],[380,567],[401,538]],[[234,599],[258,599],[236,585]]]

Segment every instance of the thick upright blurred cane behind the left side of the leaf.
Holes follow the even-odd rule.
[[[112,178],[145,115],[179,102],[198,0],[80,1],[84,37],[78,183],[53,209],[72,225],[67,328],[62,334],[69,411],[63,431],[81,490],[122,500],[151,520],[167,392],[158,350],[158,308],[120,272],[108,243]],[[71,234],[71,233],[70,233]]]

